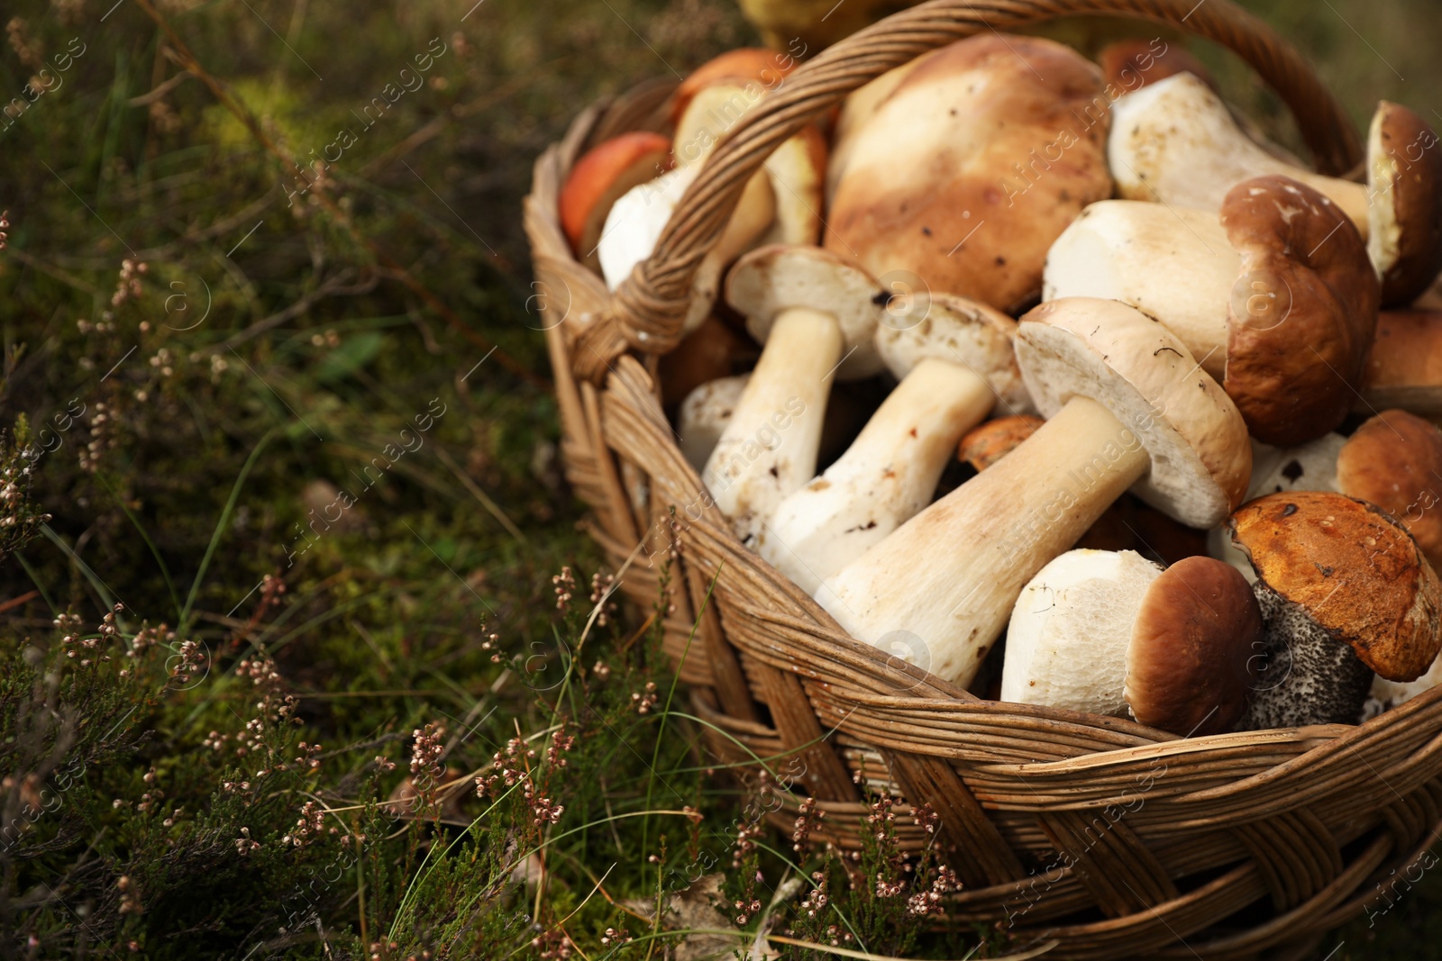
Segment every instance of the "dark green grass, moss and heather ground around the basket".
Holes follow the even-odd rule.
[[[753,43],[734,6],[112,1],[0,17],[0,954],[1009,949],[854,888],[887,840],[753,834],[786,759],[705,769],[652,612],[587,627],[519,202],[597,97]],[[1247,6],[1360,125],[1442,124],[1435,0]],[[1318,957],[1439,957],[1439,908]]]

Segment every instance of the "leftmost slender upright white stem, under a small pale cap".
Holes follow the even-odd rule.
[[[776,316],[761,357],[702,480],[743,540],[816,475],[816,450],[836,365],[841,326],[826,313],[793,307]]]

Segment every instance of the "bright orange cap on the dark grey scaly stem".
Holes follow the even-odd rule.
[[[1387,680],[1413,680],[1442,648],[1442,584],[1379,507],[1324,491],[1259,497],[1229,522],[1257,585]]]

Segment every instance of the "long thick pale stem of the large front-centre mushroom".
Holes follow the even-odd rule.
[[[970,683],[1021,588],[1146,474],[1138,437],[1074,396],[1015,451],[831,578],[816,594],[852,637],[903,644],[933,674]],[[946,604],[937,604],[946,598]]]

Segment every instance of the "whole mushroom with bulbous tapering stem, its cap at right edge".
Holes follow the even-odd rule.
[[[1422,117],[1383,101],[1367,134],[1367,183],[1278,160],[1231,120],[1191,73],[1148,84],[1112,107],[1107,157],[1118,193],[1172,207],[1217,210],[1250,177],[1285,176],[1340,206],[1367,241],[1387,304],[1405,304],[1442,267],[1442,157]]]

